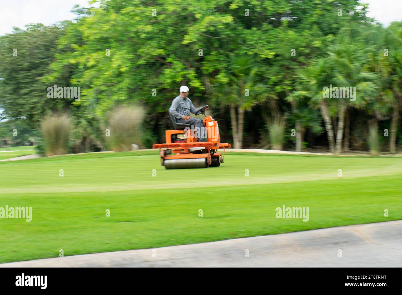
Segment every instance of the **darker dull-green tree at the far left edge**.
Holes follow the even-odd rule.
[[[41,77],[57,52],[57,40],[64,35],[63,25],[27,25],[26,30],[14,28],[12,34],[0,37],[0,109],[5,118],[27,119],[32,128],[49,110],[59,110],[70,104],[63,99],[47,97],[47,87]],[[60,77],[55,81],[66,84]],[[63,85],[63,86],[64,86]],[[68,85],[65,85],[68,86]]]

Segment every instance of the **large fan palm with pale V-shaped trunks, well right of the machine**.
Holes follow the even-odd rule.
[[[288,98],[289,101],[309,98],[310,105],[319,106],[324,118],[331,153],[342,152],[347,109],[349,107],[364,108],[377,94],[378,76],[367,71],[369,49],[359,36],[356,37],[356,32],[349,29],[341,33],[334,45],[329,48],[326,59],[318,59],[297,73],[297,91]],[[350,95],[346,98],[327,97],[324,94],[330,85],[348,89],[355,87],[355,97],[351,98]],[[330,106],[336,110],[338,117],[336,141]]]

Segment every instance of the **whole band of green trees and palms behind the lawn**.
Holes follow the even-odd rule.
[[[0,37],[1,118],[26,120],[29,131],[24,134],[38,130],[46,115],[68,111],[76,127],[71,151],[104,150],[109,112],[140,102],[148,122],[144,146],[150,147],[164,140],[168,107],[178,88],[188,85],[193,101],[215,107],[216,119],[227,129],[222,138],[232,134],[236,147],[243,145],[243,137],[246,147],[258,145],[255,130],[261,130],[275,102],[282,115],[299,116],[305,106],[319,109],[322,124],[314,120],[314,126],[301,126],[300,131],[312,130],[333,152],[340,151],[345,132],[356,134],[353,125],[344,130],[349,112],[356,110],[365,122],[390,120],[389,143],[395,151],[401,129],[402,22],[383,28],[366,15],[367,4],[92,2],[96,8],[74,9],[74,21],[31,24]],[[81,99],[48,98],[47,87],[55,84],[80,87]],[[356,100],[323,100],[323,87],[331,84],[356,87]],[[324,129],[326,136],[321,137]]]

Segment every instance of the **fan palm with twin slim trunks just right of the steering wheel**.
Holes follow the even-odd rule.
[[[265,83],[266,71],[250,55],[230,55],[228,68],[219,72],[208,89],[212,104],[229,107],[235,149],[242,148],[244,112],[275,97]]]

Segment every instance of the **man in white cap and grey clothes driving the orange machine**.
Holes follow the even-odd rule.
[[[193,103],[188,98],[189,96],[189,87],[181,86],[180,87],[180,94],[174,98],[172,101],[172,106],[170,107],[170,113],[176,117],[178,123],[187,123],[191,125],[191,129],[196,128],[195,135],[197,135],[198,142],[206,142],[206,130],[203,120],[199,118],[192,118],[190,117],[190,112],[195,114],[200,109],[194,108]],[[206,109],[205,109],[206,110]]]

